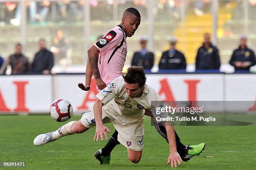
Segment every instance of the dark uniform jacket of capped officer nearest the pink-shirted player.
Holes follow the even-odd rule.
[[[154,53],[146,51],[143,55],[141,51],[134,52],[131,65],[150,70],[154,66]]]

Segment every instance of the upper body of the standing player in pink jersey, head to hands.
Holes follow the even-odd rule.
[[[122,75],[127,54],[126,37],[133,36],[140,23],[141,15],[138,10],[128,8],[123,13],[120,25],[106,32],[104,37],[92,45],[88,50],[85,86],[79,83],[82,90],[90,90],[92,74],[98,91]]]

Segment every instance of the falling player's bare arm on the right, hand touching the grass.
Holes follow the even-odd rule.
[[[171,122],[164,121],[162,122],[166,132],[167,132],[167,138],[169,140],[169,147],[170,147],[170,155],[168,157],[168,162],[167,164],[169,165],[171,163],[172,168],[177,167],[177,163],[180,165],[180,162],[182,159],[179,156],[179,153],[177,152],[176,149],[176,140],[175,140],[175,132],[174,132],[174,127],[171,124]]]

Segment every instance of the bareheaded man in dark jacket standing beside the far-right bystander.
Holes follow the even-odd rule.
[[[220,69],[220,55],[217,47],[213,46],[210,41],[210,35],[205,33],[205,42],[202,47],[197,50],[197,56],[195,61],[196,70]]]

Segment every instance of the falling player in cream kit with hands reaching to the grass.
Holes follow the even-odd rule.
[[[112,122],[119,132],[118,141],[128,148],[128,159],[138,163],[143,149],[144,113],[151,112],[151,101],[161,101],[160,95],[145,82],[143,67],[129,67],[126,75],[117,77],[95,96],[97,101],[90,112],[84,113],[80,120],[68,122],[54,132],[38,135],[34,139],[34,145],[40,146],[66,135],[83,133],[94,126],[94,140],[103,140],[103,136],[107,139],[106,131],[110,130],[104,123]],[[176,149],[174,127],[166,121],[162,124],[169,140],[168,164],[177,167],[182,159]]]

